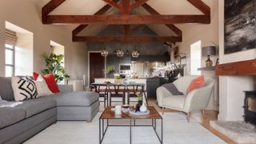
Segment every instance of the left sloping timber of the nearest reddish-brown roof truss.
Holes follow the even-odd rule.
[[[46,20],[47,15],[50,14],[54,9],[60,6],[65,0],[51,0],[42,7],[42,21]]]

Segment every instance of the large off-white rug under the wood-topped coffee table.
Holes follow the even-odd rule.
[[[93,122],[57,122],[30,138],[26,144],[98,144],[98,118]],[[140,121],[142,122],[142,120]],[[149,121],[147,121],[149,122]],[[143,123],[146,123],[143,120]],[[160,125],[159,125],[160,126]],[[103,144],[128,144],[129,127],[109,127]],[[159,129],[158,129],[159,131]],[[133,127],[133,144],[159,144],[152,127]],[[166,113],[163,116],[163,143],[222,144],[220,138],[210,133],[198,122],[186,122],[182,113]]]

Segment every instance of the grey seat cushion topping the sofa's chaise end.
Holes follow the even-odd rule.
[[[90,106],[98,101],[98,93],[78,91],[74,93],[57,94],[53,96],[57,106]]]

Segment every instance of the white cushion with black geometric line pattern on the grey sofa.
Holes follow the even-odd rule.
[[[12,77],[11,85],[14,90],[15,101],[25,101],[38,98],[37,87],[30,78]]]

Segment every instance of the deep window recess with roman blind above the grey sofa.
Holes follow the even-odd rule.
[[[6,77],[31,75],[33,73],[33,33],[6,21],[5,44]]]

